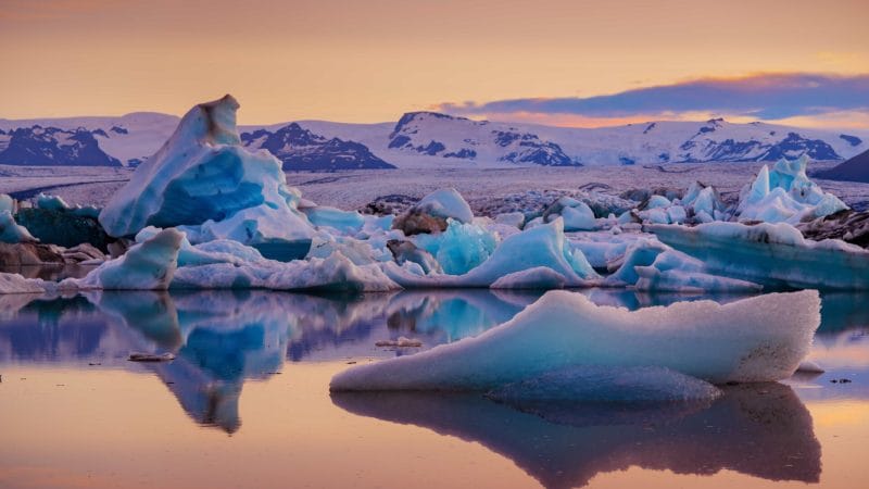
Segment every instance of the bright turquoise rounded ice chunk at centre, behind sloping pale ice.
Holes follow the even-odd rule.
[[[446,230],[419,234],[413,242],[438,260],[444,273],[462,275],[483,263],[494,251],[495,237],[476,224],[448,220]]]

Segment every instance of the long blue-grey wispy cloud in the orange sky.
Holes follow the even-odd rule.
[[[869,113],[869,74],[763,73],[694,79],[597,97],[442,103],[438,109],[490,118],[565,122],[561,125],[595,125],[595,122],[638,117],[679,120],[696,114],[761,121],[819,118],[835,124],[826,116]]]

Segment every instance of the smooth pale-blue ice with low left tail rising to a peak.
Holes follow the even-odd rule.
[[[566,242],[563,221],[540,225],[501,241],[489,260],[464,275],[418,277],[386,264],[385,272],[402,287],[489,287],[514,272],[538,266],[552,268],[570,287],[588,286],[600,278],[578,248]]]

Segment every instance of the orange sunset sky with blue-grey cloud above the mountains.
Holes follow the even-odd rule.
[[[869,2],[0,0],[0,117],[869,128]]]

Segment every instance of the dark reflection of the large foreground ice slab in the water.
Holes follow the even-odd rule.
[[[618,411],[540,405],[522,412],[479,396],[332,393],[344,410],[476,441],[549,488],[585,486],[597,474],[640,466],[678,474],[730,469],[770,480],[817,482],[820,443],[790,387],[735,386],[705,409]]]

